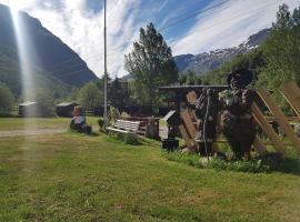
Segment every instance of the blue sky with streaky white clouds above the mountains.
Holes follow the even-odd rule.
[[[103,75],[103,0],[0,3],[39,19],[79,53],[98,77]],[[111,78],[127,74],[124,54],[139,39],[139,29],[149,22],[163,36],[173,56],[197,54],[236,47],[271,27],[282,3],[290,10],[300,7],[300,0],[107,0],[108,72]],[[72,62],[68,64],[73,65]]]

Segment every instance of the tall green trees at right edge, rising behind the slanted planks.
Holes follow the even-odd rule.
[[[287,4],[279,7],[277,21],[272,26],[270,38],[262,46],[266,65],[259,74],[258,85],[273,90],[276,100],[288,109],[278,88],[294,80],[300,84],[300,8],[289,11]]]

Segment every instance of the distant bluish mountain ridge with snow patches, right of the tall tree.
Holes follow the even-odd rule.
[[[238,47],[228,49],[217,49],[200,54],[180,54],[174,57],[179,72],[191,70],[198,75],[220,67],[223,62],[230,61],[238,54],[247,53],[251,49],[261,44],[270,34],[270,29],[263,29],[248,38],[248,40]]]

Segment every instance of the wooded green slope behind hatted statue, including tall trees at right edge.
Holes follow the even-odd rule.
[[[300,85],[300,7],[290,11],[282,4],[277,12],[270,37],[248,54],[238,56],[219,69],[201,77],[202,83],[224,84],[227,74],[237,68],[248,68],[257,74],[254,87],[274,91],[284,82],[294,80]],[[282,105],[283,105],[283,101]]]

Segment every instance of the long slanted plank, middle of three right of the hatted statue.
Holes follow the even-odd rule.
[[[286,132],[287,137],[291,140],[293,147],[298,151],[300,151],[300,140],[293,132],[283,112],[276,104],[274,100],[270,97],[269,92],[266,89],[259,89],[257,90],[257,92],[260,95],[260,98],[264,101],[271,113],[274,115],[279,127]]]

